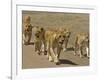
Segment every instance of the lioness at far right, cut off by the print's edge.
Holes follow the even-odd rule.
[[[74,55],[78,51],[79,56],[83,57],[83,49],[85,49],[87,57],[89,57],[89,35],[86,33],[80,33],[76,36]]]

